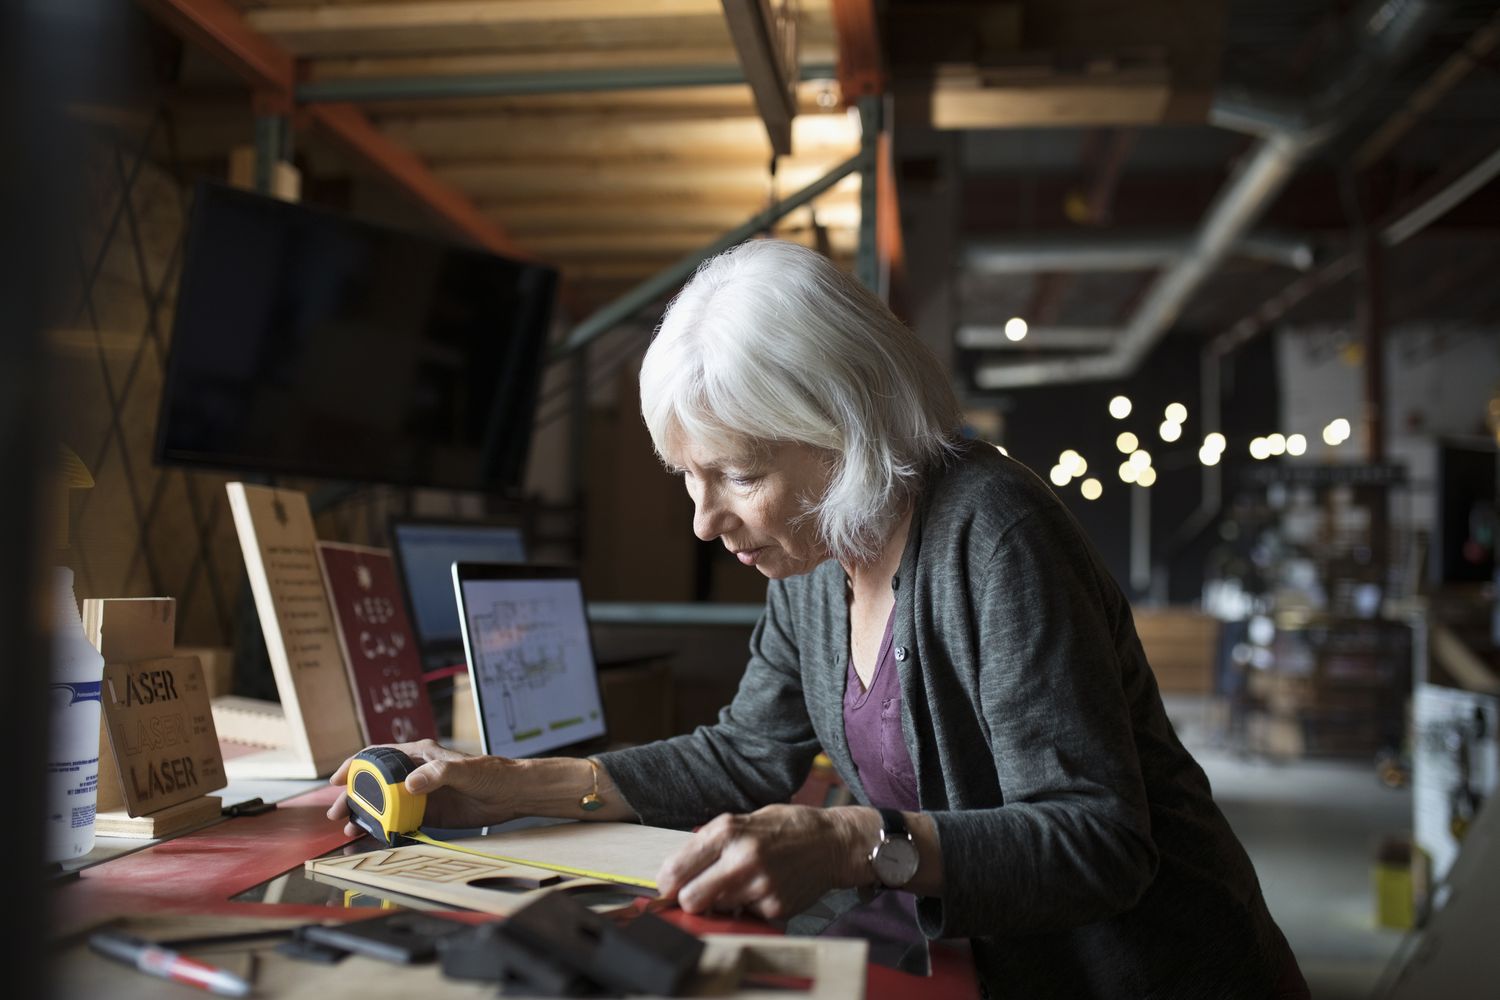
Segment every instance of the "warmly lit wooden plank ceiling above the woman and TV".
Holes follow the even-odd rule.
[[[780,157],[774,177],[766,126],[744,82],[368,99],[375,81],[441,87],[564,72],[736,72],[720,0],[231,1],[252,31],[297,60],[300,93],[364,87],[357,106],[386,138],[522,252],[562,270],[574,313],[711,243],[860,148],[831,73],[830,0],[795,4],[798,58],[816,78],[796,87],[792,154]],[[820,238],[849,258],[858,195],[850,175],[788,216],[777,234]]]

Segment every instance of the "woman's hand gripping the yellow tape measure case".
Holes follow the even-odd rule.
[[[508,757],[484,757],[459,753],[423,739],[416,744],[387,744],[412,759],[418,766],[406,775],[406,790],[428,796],[423,826],[438,829],[470,829],[514,819],[512,805],[516,792],[518,762]],[[354,757],[350,757],[354,760]],[[328,778],[328,784],[345,784],[350,760]],[[363,831],[350,820],[345,796],[328,807],[330,820],[344,820],[344,832],[358,837]]]

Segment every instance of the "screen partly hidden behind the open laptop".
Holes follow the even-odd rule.
[[[526,538],[504,522],[393,517],[390,547],[428,670],[462,661],[464,637],[453,600],[454,562],[525,562]]]

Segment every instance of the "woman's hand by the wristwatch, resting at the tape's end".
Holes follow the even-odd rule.
[[[723,814],[699,829],[657,874],[663,900],[688,913],[750,910],[768,921],[801,913],[831,889],[870,882],[873,810],[768,805],[746,816]],[[861,850],[864,846],[864,850]],[[864,868],[864,871],[861,871]]]

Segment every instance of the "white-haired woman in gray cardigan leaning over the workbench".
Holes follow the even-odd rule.
[[[411,745],[434,822],[702,825],[658,876],[686,910],[912,894],[992,996],[1298,981],[1119,586],[1047,486],[960,441],[946,375],[882,303],[746,243],[672,303],[640,406],[694,534],[771,580],[740,690],[716,726],[592,762]],[[866,805],[777,805],[819,748]]]

